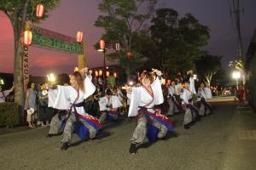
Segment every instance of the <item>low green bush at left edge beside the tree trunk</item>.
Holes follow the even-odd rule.
[[[14,102],[0,103],[0,127],[19,124],[19,106]]]

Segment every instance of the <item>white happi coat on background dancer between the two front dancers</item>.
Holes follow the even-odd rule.
[[[100,98],[99,105],[100,105],[100,111],[109,111],[110,108],[106,107],[107,105],[112,105],[113,109],[117,109],[123,106],[119,101],[119,98],[113,95],[110,96],[109,100],[106,96]]]

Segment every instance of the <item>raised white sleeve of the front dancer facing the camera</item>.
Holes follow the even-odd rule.
[[[164,95],[159,77],[155,79],[155,81],[151,84],[151,87],[154,92],[154,105],[164,103]]]

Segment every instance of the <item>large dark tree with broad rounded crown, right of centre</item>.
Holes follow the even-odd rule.
[[[194,69],[195,60],[201,57],[201,48],[210,37],[209,28],[192,14],[179,18],[172,8],[158,9],[151,23],[150,31],[158,46],[162,69],[169,72]]]

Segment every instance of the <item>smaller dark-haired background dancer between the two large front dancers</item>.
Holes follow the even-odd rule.
[[[120,116],[118,108],[123,106],[118,96],[112,95],[110,89],[107,89],[106,95],[99,99],[99,105],[102,112],[102,116],[99,118],[100,122],[106,121],[107,118],[109,122],[116,121]]]

